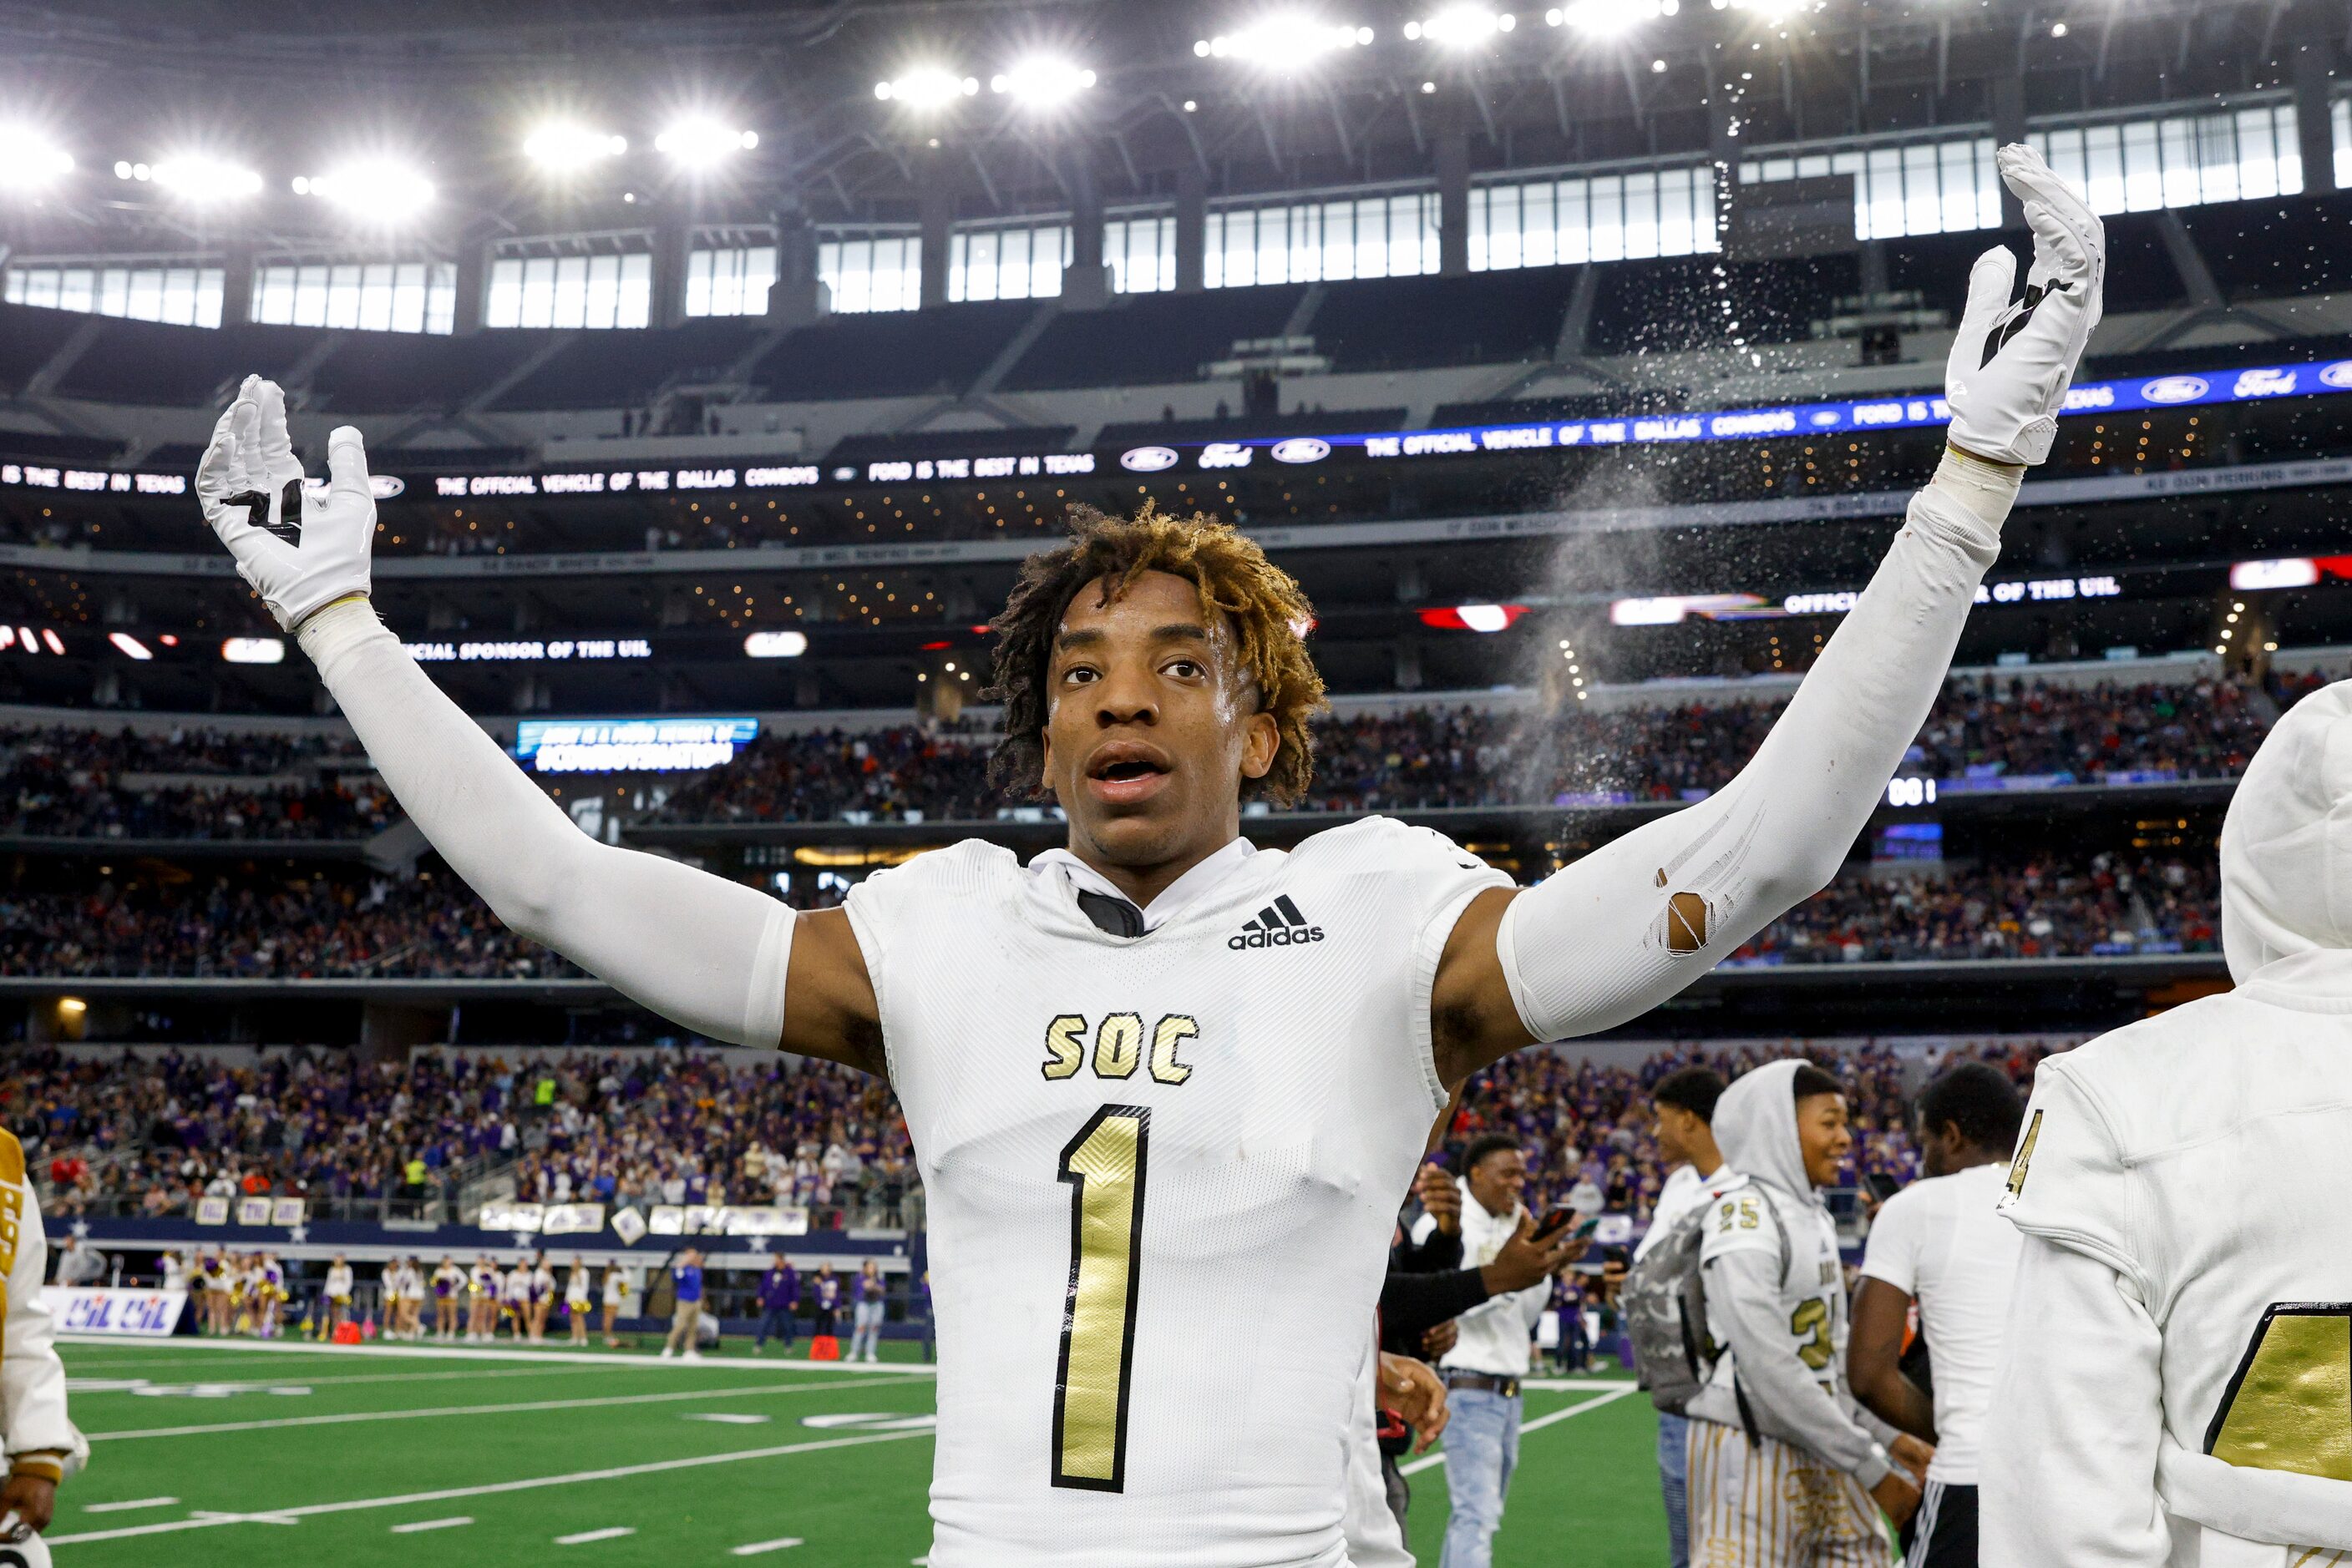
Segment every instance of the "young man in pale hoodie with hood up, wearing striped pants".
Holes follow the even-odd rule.
[[[1846,1095],[1806,1060],[1766,1063],[1715,1103],[1712,1131],[1745,1180],[1700,1246],[1708,1338],[1729,1354],[1689,1410],[1691,1561],[1884,1568],[1879,1509],[1919,1507],[1933,1448],[1846,1389],[1846,1272],[1813,1192],[1853,1147]]]

